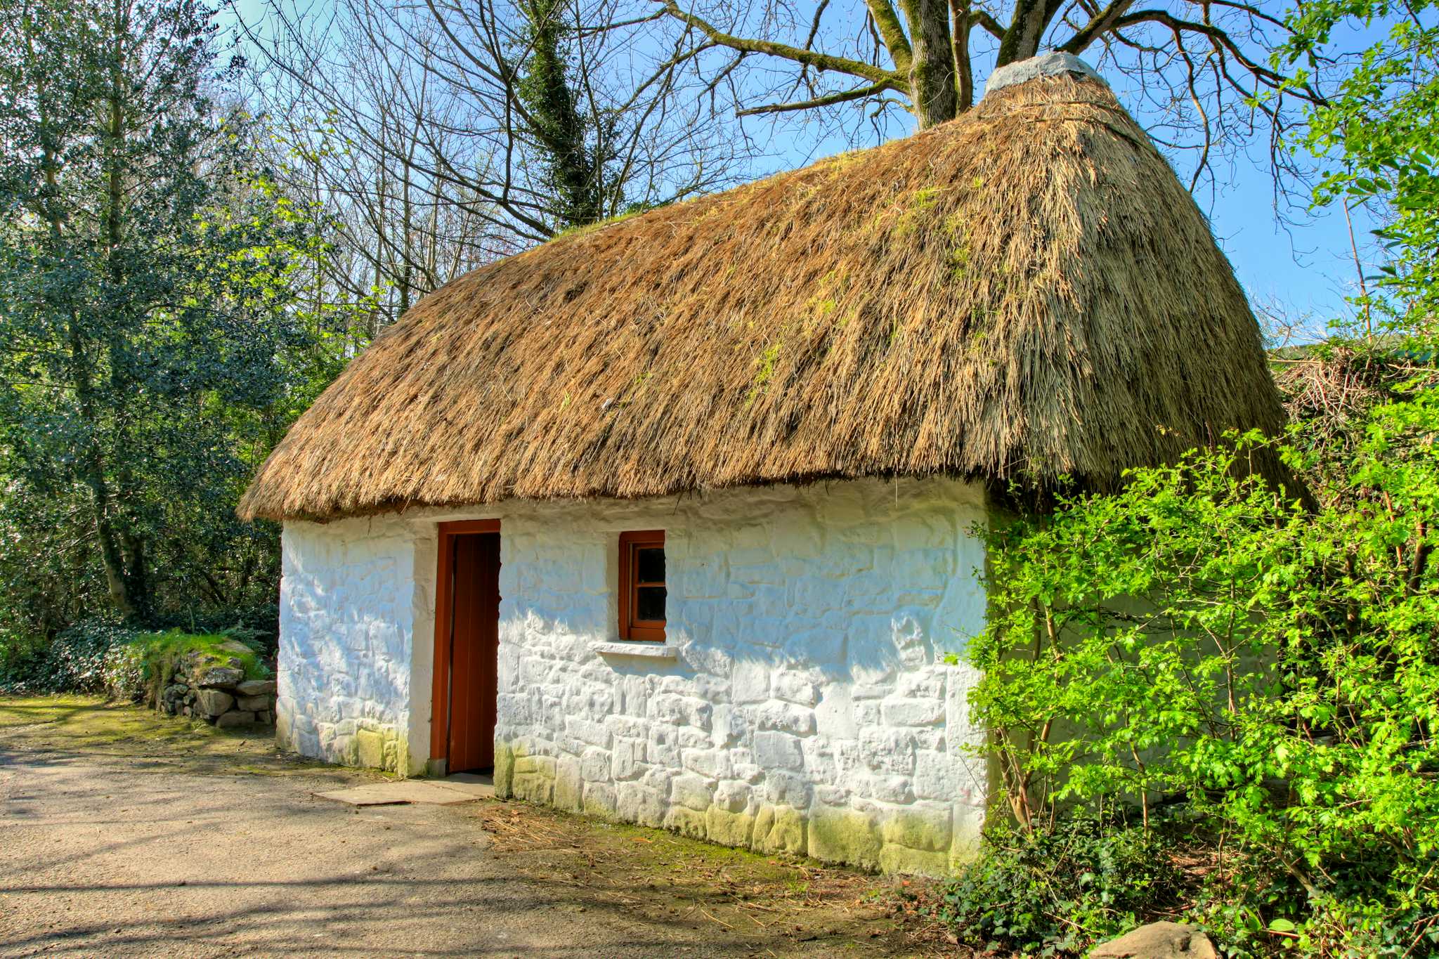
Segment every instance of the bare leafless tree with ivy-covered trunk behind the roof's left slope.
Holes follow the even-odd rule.
[[[334,223],[337,302],[373,326],[566,229],[735,183],[725,135],[630,0],[269,0],[243,35],[286,193]]]

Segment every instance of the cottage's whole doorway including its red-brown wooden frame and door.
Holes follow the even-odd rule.
[[[430,758],[445,772],[495,766],[499,693],[499,520],[439,525]]]

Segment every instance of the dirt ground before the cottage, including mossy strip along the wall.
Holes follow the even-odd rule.
[[[354,811],[312,792],[363,774],[135,722],[0,702],[0,956],[931,952],[882,880],[518,804]]]

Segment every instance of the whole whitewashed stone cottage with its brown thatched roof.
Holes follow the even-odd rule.
[[[974,848],[974,528],[1276,428],[1245,295],[1076,60],[953,122],[427,296],[245,496],[281,742],[718,843]],[[996,86],[1002,86],[996,89]]]

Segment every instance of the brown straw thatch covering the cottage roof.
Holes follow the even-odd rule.
[[[1104,487],[1281,423],[1204,217],[1107,88],[1059,76],[446,285],[240,513],[875,474]]]

